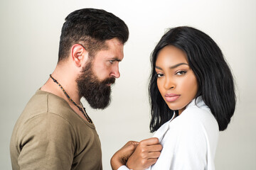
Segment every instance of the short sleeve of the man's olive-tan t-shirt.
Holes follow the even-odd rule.
[[[43,113],[28,120],[20,132],[20,169],[71,169],[75,132],[67,120]]]

